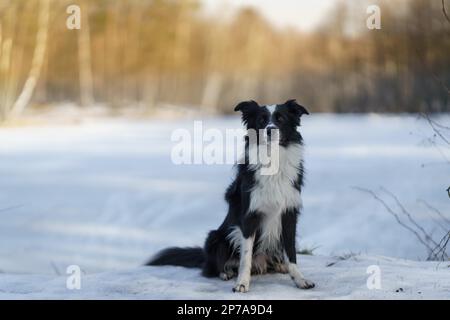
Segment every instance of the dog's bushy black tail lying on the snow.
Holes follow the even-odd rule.
[[[200,247],[167,248],[150,259],[146,266],[180,266],[201,268],[205,262],[205,252]]]

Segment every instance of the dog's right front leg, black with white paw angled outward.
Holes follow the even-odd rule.
[[[295,231],[297,227],[297,215],[295,211],[286,212],[282,220],[282,237],[284,250],[289,260],[288,272],[295,285],[301,289],[314,288],[315,284],[312,281],[306,280],[297,266],[297,252],[295,250]]]

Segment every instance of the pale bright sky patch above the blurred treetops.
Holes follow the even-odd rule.
[[[253,6],[274,25],[310,31],[316,27],[337,0],[203,0],[207,12],[232,12]]]

